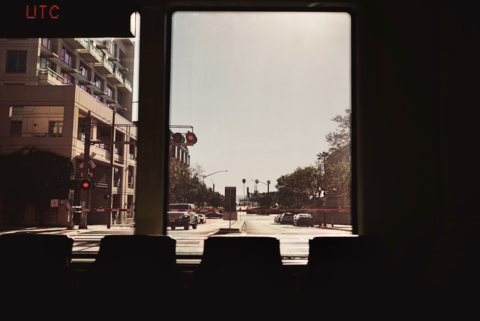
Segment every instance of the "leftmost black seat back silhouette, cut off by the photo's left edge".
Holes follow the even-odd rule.
[[[2,316],[41,320],[39,310],[65,312],[78,290],[72,247],[73,239],[66,235],[0,235]]]

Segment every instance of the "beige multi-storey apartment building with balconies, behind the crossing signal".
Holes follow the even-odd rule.
[[[90,112],[94,156],[89,171],[95,182],[89,190],[90,208],[134,208],[134,48],[129,38],[0,39],[0,153],[24,146],[47,149],[71,157],[72,178],[82,179],[85,118]],[[70,190],[72,204],[80,205],[82,192]],[[35,212],[25,208],[24,225],[39,224]],[[61,206],[52,207],[42,222],[67,226],[68,215]],[[87,224],[107,224],[108,219],[107,212],[89,212]],[[134,211],[113,213],[112,224],[134,221]]]

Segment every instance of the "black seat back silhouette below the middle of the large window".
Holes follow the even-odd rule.
[[[216,317],[223,320],[245,317],[232,313],[238,311],[238,299],[248,299],[248,308],[259,318],[271,317],[276,308],[268,301],[286,292],[282,282],[286,277],[277,238],[212,236],[204,241],[202,261],[192,274],[188,292],[216,302]]]

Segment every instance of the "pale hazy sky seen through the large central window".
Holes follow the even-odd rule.
[[[204,175],[228,170],[208,187],[276,190],[328,151],[331,119],[350,108],[347,13],[176,12],[172,33],[170,125],[193,126]]]

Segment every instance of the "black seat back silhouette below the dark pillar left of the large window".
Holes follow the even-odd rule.
[[[176,264],[175,248],[176,240],[168,236],[103,237],[95,262],[85,274],[82,291],[85,296],[91,296],[92,289],[97,289],[101,295],[98,302],[107,309],[92,305],[85,310],[87,315],[81,318],[93,311],[105,318],[131,320],[139,306],[145,313],[156,309],[159,304],[168,306],[169,299],[185,292],[185,281]],[[122,304],[126,305],[123,306],[125,309],[121,309]]]

